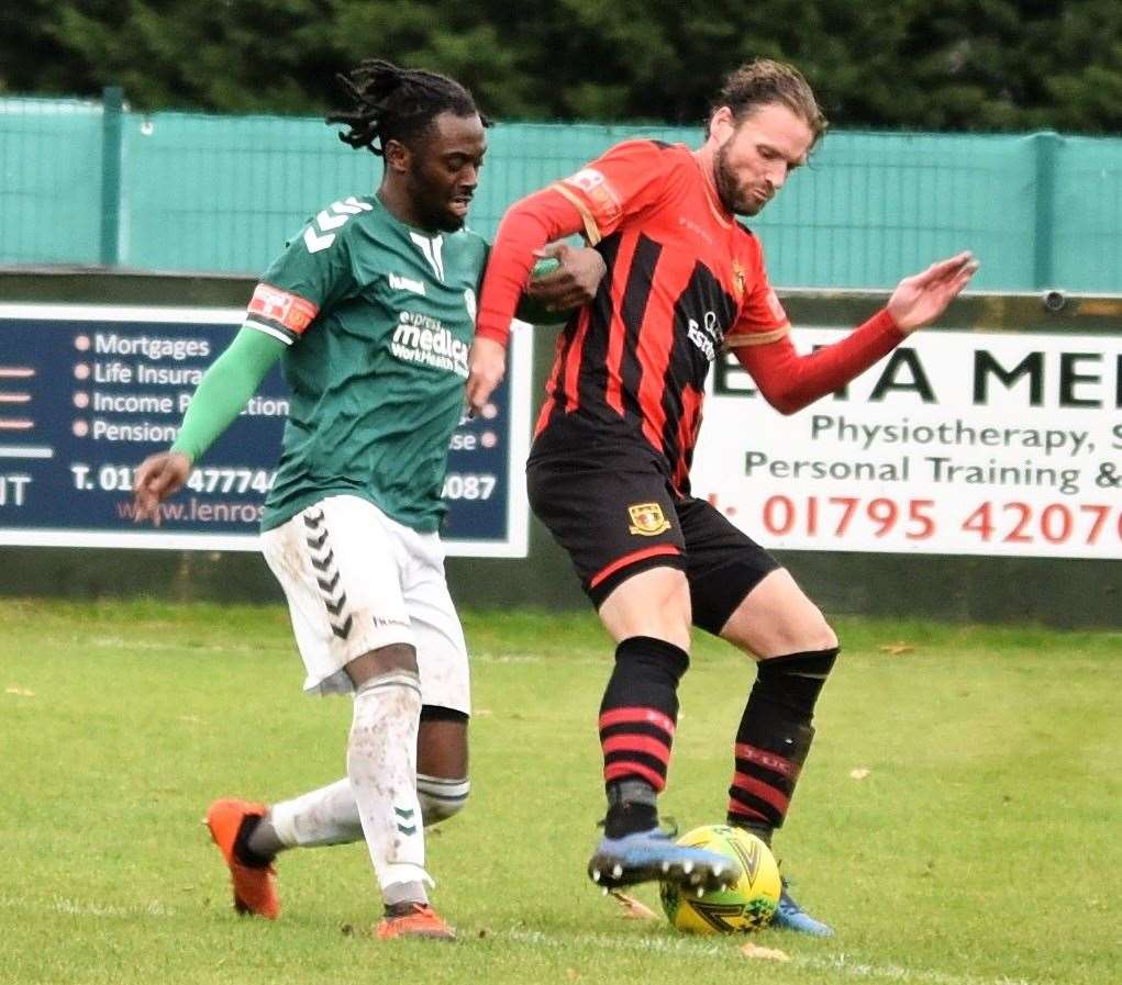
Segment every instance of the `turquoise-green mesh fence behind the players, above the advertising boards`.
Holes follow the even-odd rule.
[[[471,222],[635,136],[697,130],[500,124]],[[0,99],[0,264],[256,272],[304,219],[377,185],[380,161],[306,118],[144,115]],[[784,287],[886,287],[973,249],[990,290],[1122,290],[1122,139],[831,132],[754,221]]]

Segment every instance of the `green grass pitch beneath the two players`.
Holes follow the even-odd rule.
[[[472,797],[430,839],[454,946],[379,944],[361,845],[238,919],[210,800],[338,779],[280,608],[0,602],[0,982],[1107,985],[1122,979],[1122,634],[838,621],[784,871],[838,936],[687,938],[583,875],[601,812],[591,616],[469,613]],[[751,670],[699,640],[663,810],[719,821]],[[637,895],[657,908],[652,889]]]

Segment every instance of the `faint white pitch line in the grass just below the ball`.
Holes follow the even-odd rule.
[[[605,950],[642,951],[674,955],[675,957],[723,958],[728,961],[746,960],[735,949],[734,944],[718,944],[691,940],[689,938],[662,937],[613,937],[606,933],[578,933],[572,937],[551,937],[539,930],[506,930],[495,937],[517,944],[563,949],[573,945],[588,945]],[[739,941],[741,938],[733,938]],[[790,951],[788,951],[790,954]],[[902,968],[899,965],[870,965],[855,961],[845,954],[833,957],[813,957],[791,954],[791,964],[815,972],[829,972],[847,978],[884,982],[912,982],[921,985],[1052,985],[1043,979],[985,978],[977,975],[955,975],[949,972],[931,972]]]

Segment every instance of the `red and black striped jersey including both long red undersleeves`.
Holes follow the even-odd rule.
[[[707,167],[681,145],[628,141],[504,215],[477,338],[506,342],[548,241],[583,230],[607,263],[596,298],[558,338],[534,455],[619,448],[633,461],[638,448],[686,495],[706,375],[724,349],[772,407],[793,413],[904,338],[884,308],[799,354],[760,242],[721,206]]]

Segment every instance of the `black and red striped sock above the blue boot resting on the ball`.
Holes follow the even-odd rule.
[[[678,681],[689,662],[680,647],[653,636],[631,636],[616,648],[599,719],[609,838],[657,824],[654,802],[666,786]]]

